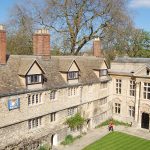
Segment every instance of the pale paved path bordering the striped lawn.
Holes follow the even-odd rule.
[[[134,127],[124,127],[124,126],[117,126],[114,128],[114,130],[150,140],[150,132],[148,130],[136,129]],[[86,135],[82,136],[80,139],[77,139],[72,144],[67,146],[59,145],[56,147],[56,149],[57,150],[82,150],[87,145],[97,141],[98,139],[102,138],[108,133],[109,131],[106,126],[97,129],[92,129]]]

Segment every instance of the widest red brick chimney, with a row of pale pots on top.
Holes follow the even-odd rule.
[[[45,60],[50,58],[50,34],[47,29],[39,29],[34,33],[33,54]]]

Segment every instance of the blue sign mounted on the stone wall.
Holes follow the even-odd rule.
[[[8,100],[8,109],[17,109],[20,108],[20,98]]]

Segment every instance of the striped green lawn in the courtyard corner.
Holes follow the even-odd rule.
[[[120,132],[111,132],[83,150],[150,150],[150,141]]]

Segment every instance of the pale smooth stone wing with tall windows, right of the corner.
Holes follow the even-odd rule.
[[[150,58],[118,57],[111,63],[113,118],[150,129]]]

